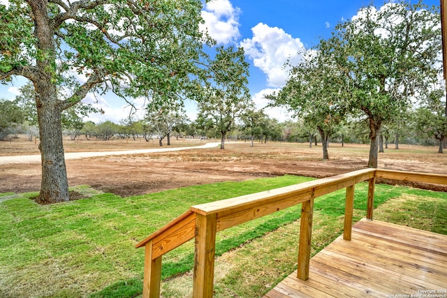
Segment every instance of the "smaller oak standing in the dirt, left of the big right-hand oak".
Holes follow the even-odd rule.
[[[321,137],[323,160],[329,159],[329,137],[337,132],[346,110],[339,105],[343,79],[337,71],[325,40],[302,54],[302,61],[291,65],[286,86],[278,94],[267,96],[272,105],[283,105],[300,117]],[[309,137],[312,147],[312,137]]]

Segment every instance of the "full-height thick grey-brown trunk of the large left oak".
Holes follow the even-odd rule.
[[[39,200],[47,203],[68,201],[68,179],[62,142],[61,102],[57,98],[54,82],[53,19],[48,17],[48,1],[29,1],[34,17],[36,51],[42,59],[36,59],[34,77],[30,78],[36,91],[36,109],[39,125],[42,181]]]

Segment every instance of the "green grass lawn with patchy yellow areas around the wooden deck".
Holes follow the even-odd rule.
[[[37,193],[0,194],[0,297],[138,297],[144,249],[134,246],[147,235],[191,205],[309,180],[284,176],[129,198],[78,186],[91,197],[45,206],[29,199]],[[358,184],[356,220],[365,216],[366,196],[367,184]],[[447,234],[447,193],[377,185],[374,202],[374,218]],[[342,232],[344,191],[318,198],[314,210],[316,253]],[[299,217],[300,205],[219,232],[216,295],[257,297],[290,274]],[[163,255],[163,295],[184,295],[182,278],[192,282],[192,267],[192,241]]]

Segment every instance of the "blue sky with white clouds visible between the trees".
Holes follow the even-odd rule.
[[[299,59],[298,50],[309,49],[318,43],[319,38],[327,38],[337,22],[351,19],[369,3],[369,0],[214,0],[205,5],[203,18],[219,45],[244,47],[250,64],[249,89],[257,107],[261,108],[267,103],[264,94],[284,86],[287,73],[282,66],[288,57]],[[439,0],[423,3],[439,6]],[[381,6],[383,1],[374,1],[374,4]],[[13,82],[13,85],[0,85],[1,98],[15,98],[17,88],[24,80]],[[96,100],[105,111],[105,114],[91,115],[96,122],[119,121],[129,110],[124,100],[113,95],[89,94],[86,98],[89,102]],[[142,100],[136,103],[138,105]],[[190,119],[195,119],[195,105],[185,104]],[[267,112],[280,121],[287,119],[284,109]]]

